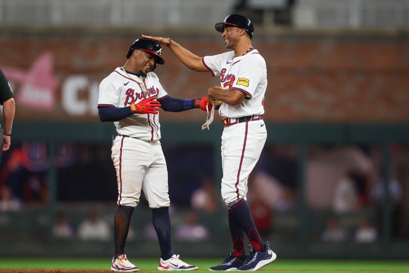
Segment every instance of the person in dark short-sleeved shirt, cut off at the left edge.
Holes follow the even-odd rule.
[[[14,94],[11,90],[10,84],[0,70],[0,104],[3,105],[3,121],[4,128],[0,126],[0,160],[3,151],[7,151],[11,144],[11,128],[13,126],[15,103]]]

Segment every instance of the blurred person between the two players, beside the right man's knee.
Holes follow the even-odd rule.
[[[212,213],[219,199],[213,179],[205,176],[201,179],[200,188],[193,192],[190,202],[193,209]]]

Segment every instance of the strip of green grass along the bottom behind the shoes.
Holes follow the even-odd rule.
[[[142,272],[158,272],[156,266],[158,259],[135,259],[131,261]],[[218,264],[219,259],[185,258],[184,261],[195,264],[199,270],[194,272],[210,272],[209,267]],[[60,258],[18,258],[0,259],[0,269],[96,269],[108,270],[109,259],[60,259]],[[409,261],[383,261],[383,260],[290,260],[282,259],[269,264],[259,271],[262,272],[330,272],[330,273],[357,273],[357,272],[408,272]]]

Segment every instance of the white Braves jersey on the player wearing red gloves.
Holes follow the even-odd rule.
[[[100,83],[98,106],[127,107],[132,101],[136,104],[152,96],[161,99],[167,95],[155,73],[149,72],[146,78],[138,78],[117,67]],[[161,139],[159,115],[135,114],[114,124],[122,135],[147,141]]]

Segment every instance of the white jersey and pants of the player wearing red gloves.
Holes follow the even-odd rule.
[[[138,103],[152,96],[167,96],[156,74],[149,72],[146,78],[138,78],[118,67],[100,83],[98,106],[127,107],[132,101]],[[136,207],[143,191],[150,208],[169,207],[159,115],[134,114],[114,123],[120,134],[111,149],[117,172],[118,204]]]

